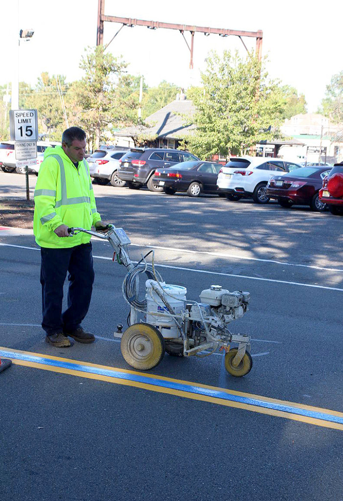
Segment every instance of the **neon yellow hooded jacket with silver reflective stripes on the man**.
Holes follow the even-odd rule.
[[[86,160],[76,168],[61,146],[47,148],[35,189],[34,233],[38,245],[64,248],[88,243],[91,237],[86,233],[59,237],[54,230],[61,224],[91,229],[100,220]]]

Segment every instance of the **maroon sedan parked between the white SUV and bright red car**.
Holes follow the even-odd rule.
[[[266,194],[276,198],[282,207],[309,205],[312,210],[325,210],[318,192],[330,167],[301,167],[283,176],[273,176],[267,184]]]

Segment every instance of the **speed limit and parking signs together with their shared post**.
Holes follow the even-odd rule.
[[[29,160],[37,158],[38,116],[37,110],[10,111],[11,139],[15,141],[16,163],[19,168],[25,165],[26,199],[30,200],[29,190]]]

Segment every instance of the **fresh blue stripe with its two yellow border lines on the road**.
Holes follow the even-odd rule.
[[[249,407],[256,408],[256,410],[257,408],[259,409],[264,408],[278,413],[286,413],[294,416],[302,416],[303,418],[308,418],[309,420],[319,420],[321,422],[323,421],[327,422],[327,424],[328,423],[335,424],[336,426],[334,427],[343,430],[343,413],[336,411],[309,407],[306,405],[301,406],[300,404],[292,405],[291,402],[282,402],[260,396],[257,397],[256,395],[249,396],[248,394],[231,392],[230,390],[225,390],[205,385],[198,385],[196,383],[190,383],[187,381],[179,381],[151,374],[145,375],[144,373],[138,373],[123,369],[121,370],[112,367],[97,366],[95,364],[89,364],[89,363],[83,364],[68,359],[61,359],[57,357],[55,358],[50,356],[40,356],[39,354],[36,355],[27,352],[9,350],[6,348],[0,349],[0,356],[11,358],[14,362],[18,360],[39,365],[50,366],[52,368],[56,367],[64,369],[66,371],[77,371],[80,373],[80,376],[82,376],[82,373],[94,374],[99,376],[105,376],[107,378],[113,378],[116,380],[131,381],[133,383],[150,385],[161,389],[165,388],[171,390],[171,392],[174,391],[174,392],[195,394],[201,397],[205,397],[205,399],[210,398],[211,399],[210,401],[212,401],[212,399],[219,399],[219,400],[230,401],[232,403],[235,402],[237,404],[243,404]]]

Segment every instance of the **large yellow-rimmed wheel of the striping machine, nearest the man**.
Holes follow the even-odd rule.
[[[125,361],[131,367],[148,370],[156,367],[163,359],[165,342],[155,327],[142,322],[126,329],[120,349]]]

